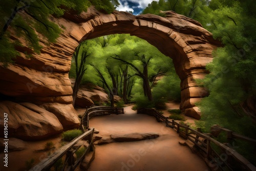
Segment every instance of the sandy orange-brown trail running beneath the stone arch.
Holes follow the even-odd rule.
[[[100,131],[100,135],[149,133],[160,134],[157,139],[114,142],[96,145],[95,159],[90,171],[167,171],[167,170],[207,170],[204,161],[191,153],[186,146],[178,142],[182,140],[178,134],[158,123],[155,118],[135,114],[132,106],[125,108],[124,115],[99,116],[90,120],[90,126]]]

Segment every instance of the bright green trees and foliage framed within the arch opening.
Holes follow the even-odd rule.
[[[147,106],[164,109],[166,100],[180,100],[180,79],[175,73],[172,59],[161,54],[145,40],[127,34],[116,34],[86,41],[90,41],[90,46],[82,45],[81,50],[92,52],[93,58],[87,58],[84,64],[86,73],[90,74],[84,74],[81,83],[95,83],[106,92],[119,95],[123,101],[131,100],[131,97],[144,100],[140,95],[145,95],[143,85],[147,84],[147,90],[153,92],[153,102],[143,101],[139,106],[146,103]],[[76,77],[74,66],[73,61],[70,77]],[[158,75],[167,77],[156,83]],[[145,80],[148,83],[144,83]],[[163,87],[168,89],[163,90]]]

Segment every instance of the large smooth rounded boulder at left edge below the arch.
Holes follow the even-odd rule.
[[[22,140],[39,140],[58,134],[63,130],[58,118],[32,103],[14,103],[1,101],[0,119],[8,114],[8,137],[14,136]],[[4,130],[4,122],[0,123]]]

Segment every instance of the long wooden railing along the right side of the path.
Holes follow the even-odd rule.
[[[201,129],[196,131],[187,125],[175,122],[174,119],[170,121],[155,109],[139,109],[137,113],[154,116],[157,121],[165,122],[166,126],[173,127],[181,137],[193,144],[193,149],[204,158],[212,170],[256,170],[256,167],[237,151],[201,133]],[[240,138],[252,143],[256,141],[227,129],[223,129],[223,131],[228,133],[229,138]]]

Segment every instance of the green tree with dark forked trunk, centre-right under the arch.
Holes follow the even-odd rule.
[[[151,77],[157,77],[161,74],[161,71],[167,70],[169,66],[164,67],[163,63],[166,62],[163,62],[163,59],[165,58],[166,60],[168,57],[166,58],[155,47],[144,40],[127,40],[126,43],[129,46],[125,45],[119,53],[115,52],[113,58],[129,65],[136,72],[135,75],[139,76],[143,80],[144,96],[146,96],[149,101],[153,101],[149,73],[152,73]],[[152,65],[153,62],[151,62],[154,58],[157,58],[155,59],[155,62],[161,61],[160,63],[162,64],[161,67],[158,66],[157,70],[154,68],[155,66]],[[152,67],[150,68],[149,65]],[[151,71],[148,71],[149,69]],[[154,71],[157,72],[154,73]]]

